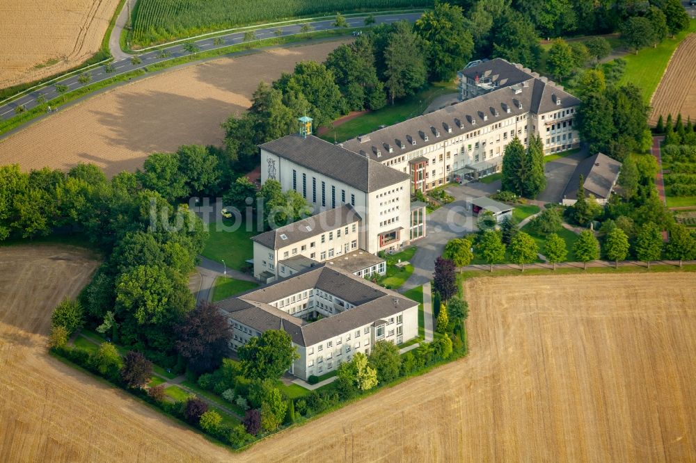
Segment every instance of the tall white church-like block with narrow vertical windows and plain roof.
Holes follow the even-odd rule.
[[[260,151],[262,183],[268,179],[277,180],[283,191],[300,193],[317,212],[337,209],[344,204],[351,206],[359,217],[359,249],[372,254],[397,250],[425,236],[425,204],[411,204],[408,173],[326,142],[308,131],[264,143]],[[353,223],[340,226],[349,225],[349,234],[352,234]],[[332,227],[334,225],[323,227],[322,234],[332,232]],[[311,240],[316,232],[315,229],[306,232],[307,239]],[[345,233],[340,238],[345,241]],[[353,235],[348,240],[349,250],[356,249],[355,238]],[[344,254],[345,245],[342,243],[341,248]],[[254,261],[256,259],[254,254]]]

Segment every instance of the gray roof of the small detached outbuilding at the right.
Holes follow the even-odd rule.
[[[602,153],[597,153],[580,161],[573,173],[573,177],[571,177],[566,186],[563,197],[569,200],[578,199],[578,183],[580,182],[580,175],[582,175],[585,179],[583,187],[586,194],[592,194],[599,199],[608,198],[619,178],[621,165],[619,161],[611,159]]]

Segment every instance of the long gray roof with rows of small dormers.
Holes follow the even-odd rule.
[[[526,84],[526,87],[523,84]],[[528,79],[523,84],[516,87],[521,89],[520,93],[515,93],[512,87],[499,88],[480,97],[379,129],[367,136],[351,138],[341,145],[351,151],[370,156],[370,159],[375,161],[386,161],[414,149],[442,143],[443,140],[495,124],[507,117],[530,111],[546,113],[580,104],[576,97],[541,79]],[[557,104],[558,99],[561,104]],[[393,149],[391,153],[390,147]]]

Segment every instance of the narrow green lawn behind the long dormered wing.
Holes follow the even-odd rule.
[[[330,142],[334,140],[342,142],[363,133],[375,131],[379,129],[380,125],[390,126],[403,122],[411,117],[421,115],[436,97],[447,95],[453,91],[449,83],[436,83],[434,86],[421,90],[416,95],[407,97],[402,101],[397,101],[393,105],[387,104],[384,108],[360,115],[330,129],[321,138]]]

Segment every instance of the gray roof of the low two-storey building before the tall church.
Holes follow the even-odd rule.
[[[361,217],[353,206],[343,204],[335,209],[285,225],[285,227],[279,227],[269,232],[252,236],[251,239],[269,249],[279,249],[313,236],[319,236],[329,230],[349,225],[358,220],[361,220]],[[285,239],[283,239],[283,236],[285,236]]]

